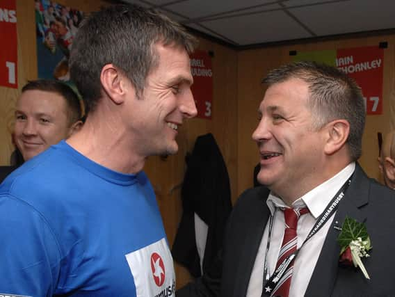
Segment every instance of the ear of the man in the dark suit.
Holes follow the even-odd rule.
[[[350,134],[350,124],[347,120],[333,120],[327,125],[327,139],[325,143],[325,154],[338,152],[346,143]]]

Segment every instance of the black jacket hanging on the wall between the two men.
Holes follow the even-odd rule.
[[[202,271],[213,262],[223,244],[227,217],[232,210],[229,175],[220,149],[212,134],[196,139],[192,154],[186,157],[182,185],[183,214],[175,242],[173,258],[188,268],[191,275],[201,275],[196,248],[194,213],[208,225]]]

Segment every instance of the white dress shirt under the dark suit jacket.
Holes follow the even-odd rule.
[[[317,218],[319,218],[321,213],[326,209],[326,207],[328,207],[330,200],[334,198],[337,191],[339,191],[341,186],[350,178],[354,170],[355,163],[348,164],[348,166],[337,173],[337,175],[334,175],[334,177],[328,179],[323,184],[320,184],[316,188],[312,189],[312,191],[309,191],[293,202],[293,208],[307,207],[309,209],[309,213],[300,216],[298,220],[298,248],[302,245],[303,241],[305,241],[309,232],[312,230],[312,227],[314,227]],[[272,275],[275,271],[277,257],[280,252],[282,238],[284,236],[284,212],[277,208],[288,208],[288,206],[281,200],[281,198],[273,195],[273,193],[269,194],[266,203],[268,204],[268,208],[270,209],[272,216],[274,216],[271,243],[267,255],[268,270],[270,275]],[[309,284],[314,267],[319,259],[319,254],[333,218],[334,214],[300,249],[293,264],[293,275],[291,288],[289,289],[289,297],[300,297],[305,295],[307,285]],[[268,225],[269,223],[266,224],[264,236],[262,236],[257,258],[255,259],[254,268],[252,268],[250,283],[248,284],[246,295],[247,297],[260,297],[262,294],[265,252],[268,242]]]

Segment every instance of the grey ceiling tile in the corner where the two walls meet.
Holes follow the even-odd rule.
[[[214,31],[234,40],[239,45],[309,38],[311,35],[284,12],[230,17],[202,22]],[[253,33],[252,33],[253,32]]]

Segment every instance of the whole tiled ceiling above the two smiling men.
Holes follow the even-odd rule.
[[[395,29],[395,0],[123,0],[232,47]],[[391,31],[392,32],[392,31]]]

